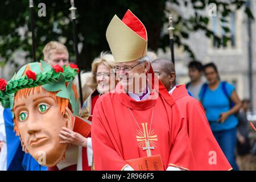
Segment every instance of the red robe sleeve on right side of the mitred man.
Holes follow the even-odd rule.
[[[195,160],[187,134],[187,123],[176,105],[172,106],[172,123],[170,124],[171,151],[168,166],[191,170],[195,167]]]

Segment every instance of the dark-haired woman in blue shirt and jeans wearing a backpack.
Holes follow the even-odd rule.
[[[204,65],[205,83],[199,93],[213,135],[229,160],[233,170],[238,170],[234,155],[237,142],[237,112],[242,106],[233,85],[221,81],[214,63]]]

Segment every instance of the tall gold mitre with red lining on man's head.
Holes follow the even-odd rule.
[[[147,31],[130,10],[123,19],[114,15],[106,30],[106,39],[115,63],[130,62],[147,55]]]

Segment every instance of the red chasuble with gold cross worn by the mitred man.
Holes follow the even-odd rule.
[[[152,68],[150,73],[153,73],[151,83],[154,83],[158,78]],[[95,169],[122,170],[127,166],[125,160],[147,156],[148,150],[143,150],[147,147],[146,140],[154,147],[151,155],[161,155],[164,169],[168,166],[195,168],[187,123],[162,83],[159,82],[159,97],[152,99],[156,94],[154,89],[146,101],[135,101],[126,93],[120,93],[118,88],[120,85],[115,93],[98,98],[93,111]]]

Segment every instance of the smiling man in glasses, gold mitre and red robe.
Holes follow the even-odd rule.
[[[114,16],[106,38],[119,84],[94,107],[95,169],[133,170],[126,160],[155,155],[164,170],[195,168],[187,123],[146,56],[146,28],[128,10],[122,20]]]

